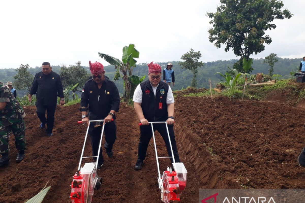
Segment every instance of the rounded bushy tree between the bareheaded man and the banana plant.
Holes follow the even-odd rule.
[[[77,61],[76,65],[63,65],[60,67],[60,77],[63,83],[63,88],[66,89],[68,86],[74,86],[78,83],[77,86],[74,86],[72,89],[72,97],[75,99],[75,92],[81,92],[78,88],[84,86],[85,82],[90,77],[90,74],[86,71],[86,69],[81,65],[81,61]]]

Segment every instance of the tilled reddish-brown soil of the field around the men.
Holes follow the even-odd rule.
[[[86,126],[76,124],[78,105],[56,109],[54,136],[39,129],[35,107],[26,107],[26,158],[16,164],[14,136],[11,164],[0,169],[0,202],[25,202],[48,182],[44,203],[71,202],[70,184],[77,170]],[[200,188],[305,188],[305,169],[297,156],[305,145],[303,109],[261,101],[227,98],[178,97],[175,134],[188,181],[181,202],[199,202]],[[117,140],[113,158],[98,175],[102,186],[93,202],[160,202],[157,168],[151,141],[141,171],[132,167],[139,138],[135,111],[124,103],[117,113]],[[156,134],[159,156],[166,156]],[[88,140],[89,141],[89,140]],[[90,143],[86,155],[91,154]],[[162,159],[161,171],[170,163]]]

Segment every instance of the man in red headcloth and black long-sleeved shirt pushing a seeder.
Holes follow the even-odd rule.
[[[89,61],[92,79],[89,79],[81,94],[81,114],[83,123],[89,125],[90,120],[104,120],[106,123],[105,131],[105,149],[109,158],[113,156],[112,147],[117,138],[117,125],[115,121],[115,113],[119,110],[120,96],[117,86],[114,82],[105,77],[104,66]],[[89,105],[89,107],[88,107]],[[87,114],[88,112],[88,114]],[[99,141],[101,138],[102,125],[90,123],[89,135],[91,137],[92,156],[97,156],[99,151]],[[95,158],[96,161],[96,158]],[[104,164],[102,149],[100,152],[97,169]]]

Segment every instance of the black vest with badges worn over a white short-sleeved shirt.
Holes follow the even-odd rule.
[[[156,90],[156,96],[153,93],[152,86],[149,80],[142,82],[140,86],[142,90],[141,107],[144,117],[149,122],[166,121],[168,118],[166,104],[168,84],[160,81],[159,86]]]

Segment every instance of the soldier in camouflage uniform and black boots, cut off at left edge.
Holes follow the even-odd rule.
[[[0,82],[0,167],[9,164],[9,134],[13,132],[18,150],[16,162],[24,159],[25,113],[8,86]]]

